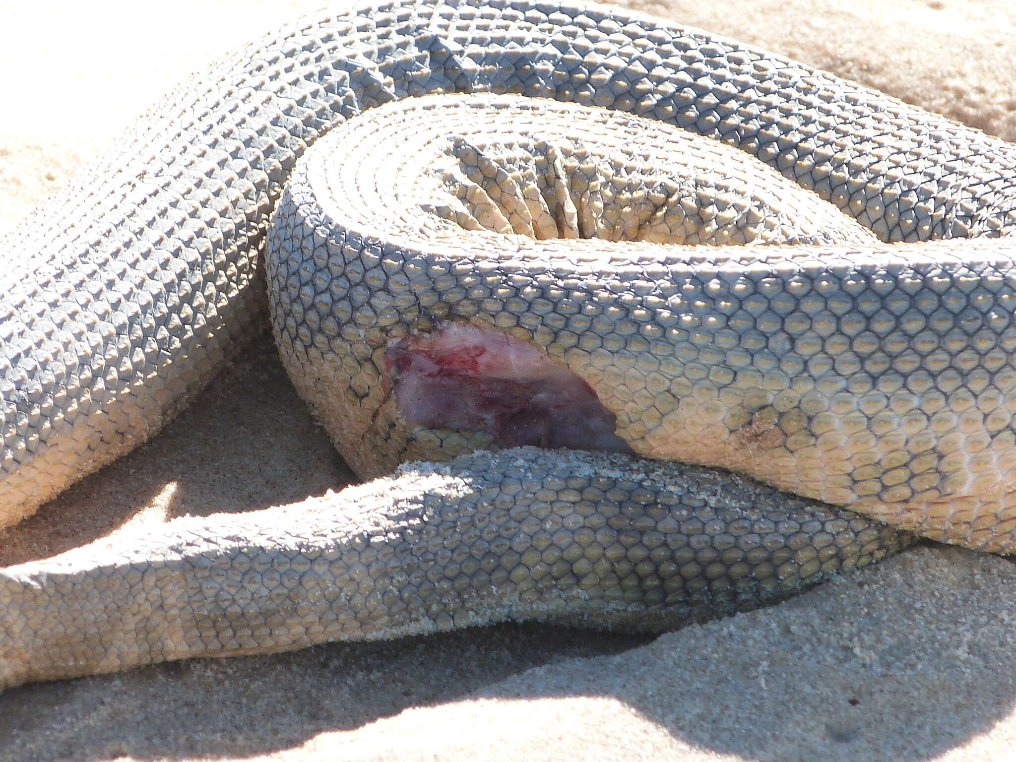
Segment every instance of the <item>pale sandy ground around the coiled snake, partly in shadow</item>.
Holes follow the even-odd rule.
[[[317,5],[0,2],[0,232],[188,71]],[[1016,139],[1006,0],[639,7]],[[261,337],[162,435],[0,533],[0,565],[351,479]],[[927,547],[656,639],[501,626],[31,685],[0,695],[0,759],[1009,759],[1014,575]]]

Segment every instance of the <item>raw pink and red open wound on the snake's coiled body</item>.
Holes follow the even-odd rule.
[[[410,427],[486,431],[503,448],[631,452],[589,384],[499,331],[445,323],[394,341],[384,364]]]

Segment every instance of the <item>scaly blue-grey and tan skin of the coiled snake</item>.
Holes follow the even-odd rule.
[[[679,132],[754,169],[673,158]],[[448,462],[4,570],[0,687],[506,619],[660,630],[908,542],[871,517],[1012,550],[1014,167],[977,130],[607,6],[368,3],[244,48],[3,241],[0,521],[158,431],[266,282],[361,475]],[[828,209],[784,226],[791,188]],[[491,340],[524,360],[483,384],[577,379],[578,423],[415,423],[419,366]],[[512,447],[561,431],[615,452]]]

